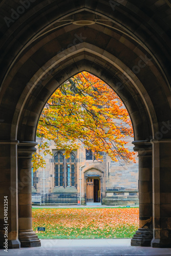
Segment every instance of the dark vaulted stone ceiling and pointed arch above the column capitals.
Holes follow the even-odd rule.
[[[34,140],[48,98],[83,70],[118,93],[136,140],[155,138],[171,114],[170,7],[167,0],[2,1],[0,138]]]

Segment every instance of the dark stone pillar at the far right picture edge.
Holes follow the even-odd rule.
[[[171,140],[153,143],[152,246],[171,248]]]

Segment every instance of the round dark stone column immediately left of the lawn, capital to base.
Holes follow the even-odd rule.
[[[35,145],[35,142],[18,145],[18,226],[21,247],[41,246],[32,230],[31,157],[36,151]]]

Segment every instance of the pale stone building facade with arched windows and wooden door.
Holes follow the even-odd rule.
[[[133,151],[131,137],[124,139],[126,147]],[[40,143],[40,138],[37,138]],[[69,159],[65,151],[57,151],[53,141],[47,141],[53,156],[45,156],[44,168],[32,172],[32,193],[78,195],[81,204],[102,202],[107,205],[138,205],[138,157],[136,163],[123,160],[114,162],[104,152],[103,161],[97,161],[92,152],[81,144]],[[81,178],[81,182],[80,182]],[[80,198],[81,190],[81,198]]]

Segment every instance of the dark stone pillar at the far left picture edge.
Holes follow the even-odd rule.
[[[18,141],[0,141],[0,248],[2,249],[5,249],[5,239],[8,239],[8,249],[20,247],[18,240],[17,144]],[[6,200],[6,205],[4,205],[4,199],[8,200]],[[4,211],[4,208],[8,210]],[[6,231],[4,227],[6,227]]]

